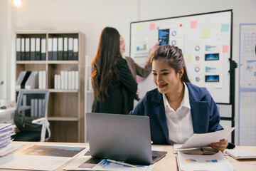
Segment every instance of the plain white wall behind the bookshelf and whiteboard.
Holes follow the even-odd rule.
[[[5,90],[0,87],[0,98],[3,92],[7,98],[15,97],[14,28],[18,31],[82,31],[85,53],[92,59],[100,31],[105,26],[117,28],[124,36],[129,54],[129,23],[132,21],[233,9],[233,59],[238,62],[239,24],[256,23],[255,0],[23,0],[18,8],[7,1],[11,0],[0,1],[0,81],[9,79]],[[238,94],[238,69],[236,72]]]

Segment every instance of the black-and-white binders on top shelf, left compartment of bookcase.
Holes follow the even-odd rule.
[[[46,61],[46,38],[16,38],[16,61]]]

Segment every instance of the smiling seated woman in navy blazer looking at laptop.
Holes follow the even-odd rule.
[[[217,105],[208,90],[190,83],[181,49],[160,46],[151,65],[157,88],[147,92],[130,115],[149,116],[154,144],[184,143],[193,133],[223,130]],[[228,140],[209,146],[223,151]]]

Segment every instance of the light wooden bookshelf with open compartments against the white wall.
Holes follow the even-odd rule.
[[[21,71],[46,71],[45,88],[50,91],[47,118],[51,137],[48,141],[84,142],[84,34],[79,31],[16,33],[16,80]],[[55,75],[61,71],[78,71],[75,85],[78,88],[56,88]],[[19,90],[16,89],[16,95]]]

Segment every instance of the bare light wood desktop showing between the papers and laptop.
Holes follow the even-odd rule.
[[[33,145],[35,142],[14,142],[14,143],[24,143],[23,147],[19,148],[18,150],[21,150],[23,148],[26,148],[30,145]],[[64,143],[64,142],[36,142],[36,143],[48,143],[48,144],[54,144],[54,145],[72,145],[72,146],[80,146],[80,145],[88,145],[85,143]],[[153,145],[153,147],[164,147],[164,151],[167,152],[166,157],[162,158],[158,162],[156,162],[156,165],[154,166],[153,170],[161,170],[161,171],[167,171],[167,170],[178,170],[177,163],[176,163],[176,154],[173,153],[173,146],[172,145]],[[256,154],[256,146],[250,147],[250,146],[240,146],[235,147],[235,149],[244,149],[248,150],[254,154]],[[15,152],[17,152],[16,150]],[[256,168],[256,159],[253,160],[235,160],[230,156],[227,156],[230,163],[235,167],[236,171],[240,170],[255,170]],[[1,159],[1,157],[0,157]],[[73,159],[74,160],[74,159]],[[63,170],[63,168],[68,165],[73,160],[70,160],[62,167],[58,168],[58,170]],[[6,170],[10,171],[10,170]]]

